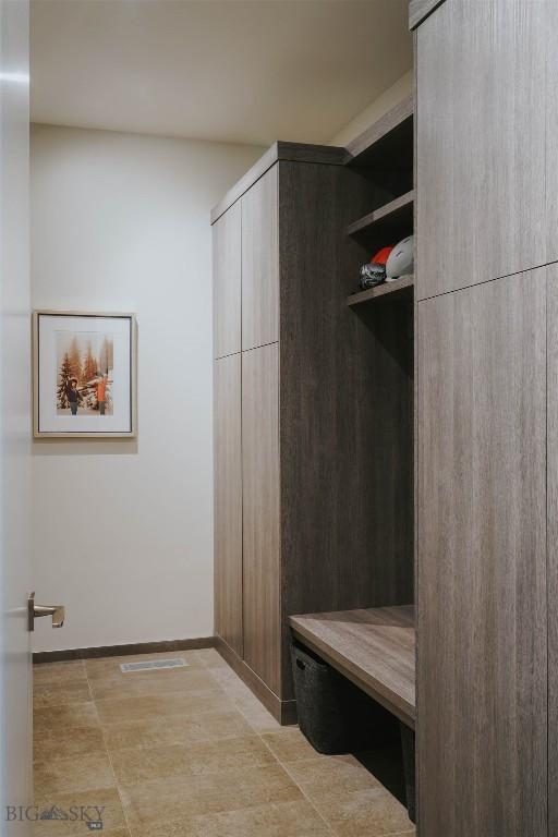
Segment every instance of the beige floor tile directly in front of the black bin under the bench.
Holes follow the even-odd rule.
[[[322,799],[342,801],[351,791],[381,788],[352,755],[298,760],[287,763],[286,767],[311,802]]]

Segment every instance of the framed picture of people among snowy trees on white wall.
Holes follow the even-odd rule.
[[[35,311],[35,437],[136,435],[133,314]]]

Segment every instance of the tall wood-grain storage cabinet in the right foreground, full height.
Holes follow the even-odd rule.
[[[416,33],[418,834],[555,837],[558,15],[435,5]]]

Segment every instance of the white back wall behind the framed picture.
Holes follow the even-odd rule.
[[[33,306],[140,333],[137,441],[33,446],[37,651],[213,634],[209,209],[262,150],[33,126]]]

